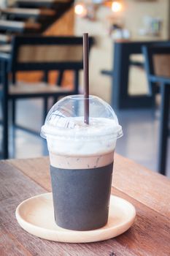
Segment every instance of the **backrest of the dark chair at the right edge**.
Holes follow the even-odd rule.
[[[144,67],[147,72],[150,94],[154,91],[155,83],[152,76],[170,78],[170,42],[160,42],[150,46],[143,46]]]

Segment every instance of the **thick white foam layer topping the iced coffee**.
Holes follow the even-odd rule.
[[[67,127],[44,127],[51,153],[85,156],[107,154],[115,149],[117,133],[122,129],[114,120],[90,118],[90,124],[87,125],[82,117],[64,119]],[[69,121],[74,128],[69,128]]]

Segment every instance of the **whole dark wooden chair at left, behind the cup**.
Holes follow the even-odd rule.
[[[93,39],[89,39],[89,48]],[[3,158],[9,157],[9,100],[13,103],[12,120],[15,122],[15,100],[21,98],[42,98],[45,102],[44,117],[47,115],[47,99],[78,94],[79,71],[83,68],[82,37],[14,37],[11,53],[0,53],[2,89],[0,97],[3,105]],[[9,84],[9,73],[18,71],[43,71],[45,82]],[[74,89],[49,86],[47,73],[50,70],[74,71]]]

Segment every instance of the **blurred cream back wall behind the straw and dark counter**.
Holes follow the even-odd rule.
[[[106,18],[111,15],[107,7],[100,7],[96,12],[96,20],[90,21],[79,17],[75,18],[74,33],[82,35],[89,32],[96,38],[96,46],[90,53],[90,93],[110,102],[111,80],[109,77],[101,75],[101,69],[112,69],[112,44],[109,37],[109,21]],[[163,19],[163,29],[161,39],[169,37],[169,0],[138,1],[124,0],[123,11],[116,14],[115,19],[124,24],[125,28],[131,32],[131,39],[155,39],[152,37],[141,37],[138,34],[142,28],[144,15]],[[157,38],[158,39],[158,38]],[[142,69],[133,67],[130,72],[130,94],[147,93],[147,80]],[[138,81],[136,83],[136,81]]]

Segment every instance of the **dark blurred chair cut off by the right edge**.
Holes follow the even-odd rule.
[[[158,171],[165,175],[170,112],[170,42],[159,43],[149,47],[144,46],[142,51],[145,57],[144,65],[147,72],[150,94],[155,95],[159,91],[161,93]]]

